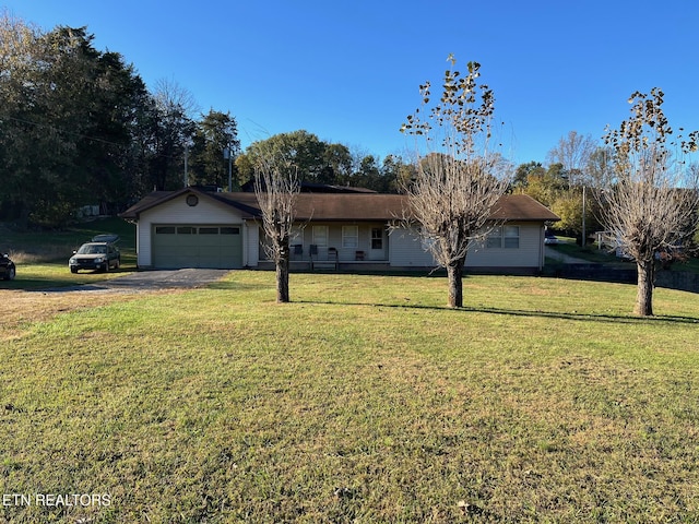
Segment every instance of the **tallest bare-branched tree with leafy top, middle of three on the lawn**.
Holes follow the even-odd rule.
[[[408,223],[418,224],[418,234],[440,267],[447,269],[449,306],[463,307],[463,266],[469,249],[487,235],[494,206],[508,188],[498,176],[505,164],[491,154],[491,119],[495,98],[487,85],[476,84],[481,64],[469,62],[467,74],[451,68],[445,73],[440,100],[429,107],[430,83],[419,86],[419,109],[407,117],[401,131],[423,139],[427,153],[416,144],[415,178],[403,188],[408,196]]]

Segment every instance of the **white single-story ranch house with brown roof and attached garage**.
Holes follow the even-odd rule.
[[[371,192],[299,193],[292,270],[434,269],[412,228],[390,227],[407,199]],[[271,269],[257,196],[197,187],[155,191],[120,214],[137,225],[141,269]],[[525,194],[505,195],[491,216],[500,224],[466,258],[471,270],[536,273],[544,265],[544,225],[559,217]]]

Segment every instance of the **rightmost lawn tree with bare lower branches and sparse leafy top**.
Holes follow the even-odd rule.
[[[685,229],[694,231],[697,225],[699,178],[696,169],[686,168],[684,157],[697,151],[699,133],[668,142],[673,130],[656,87],[650,95],[633,93],[629,103],[631,117],[604,138],[614,150],[615,169],[601,199],[606,227],[637,263],[633,312],[652,315],[656,253],[672,249]]]

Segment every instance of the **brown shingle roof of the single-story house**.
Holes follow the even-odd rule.
[[[157,191],[149,194],[119,216],[138,219],[144,211],[165,203],[187,192],[212,198],[239,210],[244,217],[259,216],[254,193],[208,193],[196,188],[179,191]],[[403,216],[407,199],[402,194],[384,193],[299,193],[296,217],[299,221],[323,222],[388,222]],[[547,207],[526,194],[508,194],[498,201],[493,219],[501,221],[559,221]]]

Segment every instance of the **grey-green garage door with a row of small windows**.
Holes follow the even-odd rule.
[[[154,224],[153,266],[242,267],[240,224]]]

